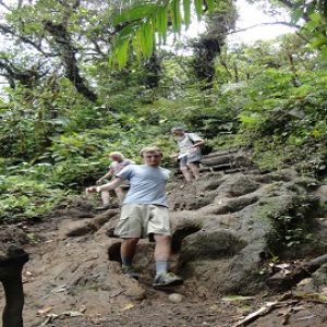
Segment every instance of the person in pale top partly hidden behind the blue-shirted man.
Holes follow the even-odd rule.
[[[108,172],[102,175],[100,179],[97,180],[97,184],[104,184],[106,183],[106,179],[108,179],[109,177],[116,175],[117,173],[119,173],[124,167],[131,165],[131,164],[135,164],[133,160],[131,159],[125,159],[124,156],[119,153],[119,152],[113,152],[109,154],[110,159],[112,160],[112,162],[109,166],[109,170]],[[117,197],[119,198],[119,202],[122,203],[125,196],[125,192],[123,190],[122,186],[118,186],[117,189],[114,189],[114,192],[117,194]],[[101,199],[102,199],[102,206],[101,207],[97,207],[98,210],[106,210],[109,209],[110,206],[110,194],[109,191],[102,191],[101,192]]]

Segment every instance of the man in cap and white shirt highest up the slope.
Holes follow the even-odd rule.
[[[198,164],[202,159],[201,147],[205,141],[195,133],[186,133],[183,128],[171,129],[179,147],[179,154],[174,155],[179,159],[180,169],[187,182],[193,178],[198,180]]]

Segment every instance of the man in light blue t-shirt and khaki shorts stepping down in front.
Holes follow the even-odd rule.
[[[133,257],[140,239],[148,237],[156,242],[155,288],[179,286],[183,283],[181,277],[168,272],[171,254],[170,219],[166,197],[166,185],[170,171],[160,167],[162,152],[156,146],[141,150],[144,165],[130,165],[123,168],[112,182],[101,186],[90,186],[86,193],[116,190],[124,181],[129,181],[131,189],[124,198],[120,220],[114,233],[123,239],[120,254],[122,270],[131,278],[138,279],[133,269]]]

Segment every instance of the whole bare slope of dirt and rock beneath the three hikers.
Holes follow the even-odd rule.
[[[23,271],[25,326],[238,326],[267,294],[278,305],[252,326],[286,319],[280,312],[299,301],[288,320],[302,326],[313,300],[311,326],[327,326],[327,186],[293,169],[262,173],[242,152],[215,153],[204,162],[201,181],[185,184],[177,174],[169,184],[170,266],[185,279],[175,289],[152,288],[147,240],[135,257],[140,282],[121,274],[121,242],[112,235],[119,209],[98,214],[85,196],[43,222],[2,227],[3,249],[14,240],[31,255]],[[320,262],[300,276],[314,257]],[[291,289],[293,295],[276,296]]]

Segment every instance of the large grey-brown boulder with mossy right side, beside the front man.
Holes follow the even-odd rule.
[[[172,213],[179,272],[207,292],[256,293],[268,290],[265,267],[270,259],[327,251],[323,238],[313,237],[326,235],[327,229],[317,231],[318,203],[310,183],[294,170],[208,175],[197,182],[196,191],[213,201]]]

